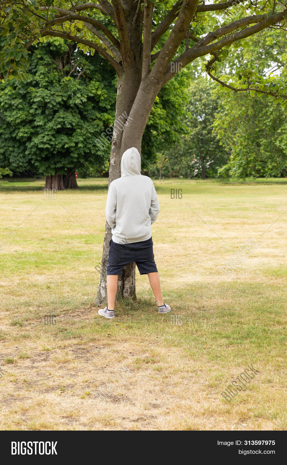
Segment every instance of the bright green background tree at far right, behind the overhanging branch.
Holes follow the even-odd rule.
[[[264,31],[260,36],[250,38],[247,47],[232,50],[228,55],[229,67],[218,63],[214,70],[220,80],[228,82],[228,74],[235,72],[239,65],[245,67],[250,79],[257,71],[264,76],[268,88],[275,87],[280,78],[286,81],[286,33]],[[264,56],[264,58],[263,58]],[[236,74],[238,83],[244,79]],[[280,98],[252,93],[224,92],[218,87],[220,112],[216,113],[214,133],[230,155],[226,166],[219,174],[237,178],[248,176],[286,176],[287,169],[287,114],[280,105]]]

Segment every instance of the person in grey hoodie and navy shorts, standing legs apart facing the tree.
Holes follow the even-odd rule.
[[[134,147],[123,153],[121,177],[111,182],[107,193],[106,217],[112,228],[107,264],[107,307],[99,315],[114,318],[118,276],[135,262],[147,274],[160,313],[170,311],[162,300],[160,278],[154,263],[151,224],[160,211],[153,181],[140,174],[140,153]]]

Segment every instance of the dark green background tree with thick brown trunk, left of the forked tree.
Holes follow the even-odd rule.
[[[83,160],[104,162],[109,144],[95,139],[113,122],[116,91],[113,68],[100,61],[63,39],[35,47],[27,79],[0,88],[2,166],[47,176],[45,187],[59,190],[77,187]]]

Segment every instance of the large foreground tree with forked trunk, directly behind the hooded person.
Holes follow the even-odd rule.
[[[235,14],[225,14],[230,7]],[[84,50],[95,50],[116,70],[115,120],[123,124],[113,131],[110,183],[120,176],[124,150],[134,146],[140,151],[154,100],[176,73],[195,59],[212,55],[206,67],[212,76],[214,62],[226,59],[228,46],[240,46],[240,40],[269,27],[284,27],[287,10],[274,0],[227,0],[212,4],[199,0],[159,3],[3,0],[0,13],[2,33],[11,38],[11,45],[0,57],[3,79],[25,73],[29,47],[46,36],[62,37]],[[285,99],[280,84],[275,83],[271,91],[264,80],[255,78],[247,79],[244,86],[276,96],[281,93],[280,98]],[[127,114],[124,120],[120,119],[123,114]],[[106,299],[110,238],[111,230],[106,224],[98,304]],[[134,268],[134,264],[126,266],[119,279],[119,292],[123,296],[135,296]]]

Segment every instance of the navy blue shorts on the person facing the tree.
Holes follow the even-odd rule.
[[[120,275],[123,267],[132,262],[136,263],[140,274],[157,272],[152,238],[132,244],[117,244],[110,240],[107,274]]]

